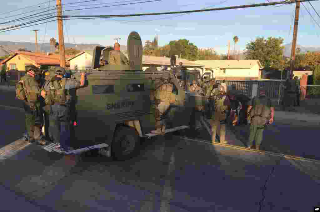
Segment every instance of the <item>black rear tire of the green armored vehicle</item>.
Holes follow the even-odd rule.
[[[116,160],[123,161],[137,155],[139,150],[140,137],[137,131],[133,127],[118,127],[112,141],[112,156]]]

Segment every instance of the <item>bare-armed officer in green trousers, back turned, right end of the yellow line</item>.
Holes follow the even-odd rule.
[[[271,99],[266,96],[266,90],[263,87],[259,89],[259,96],[252,98],[248,103],[248,122],[250,122],[250,135],[248,148],[252,148],[255,140],[256,149],[260,150],[262,134],[267,124],[272,124],[275,108]]]

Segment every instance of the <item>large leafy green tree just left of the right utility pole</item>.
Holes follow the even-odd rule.
[[[264,67],[280,68],[282,63],[283,38],[257,37],[246,45],[245,59],[259,59]]]

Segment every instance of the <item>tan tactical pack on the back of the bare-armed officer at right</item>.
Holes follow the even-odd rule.
[[[271,109],[266,105],[255,105],[250,111],[250,117],[252,120],[257,121],[259,126],[264,126],[271,118]]]

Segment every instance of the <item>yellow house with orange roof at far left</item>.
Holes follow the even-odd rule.
[[[66,58],[69,58],[70,55],[66,55]],[[6,63],[7,68],[11,71],[12,75],[17,75],[18,80],[20,80],[21,72],[24,72],[27,65],[35,65],[40,67],[45,66],[60,66],[60,55],[58,54],[45,54],[45,53],[35,53],[28,51],[16,51],[13,55],[7,57],[1,61],[0,65]],[[69,67],[70,64],[66,61],[66,66]]]

